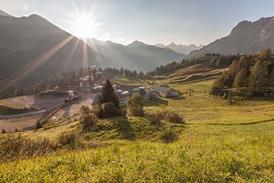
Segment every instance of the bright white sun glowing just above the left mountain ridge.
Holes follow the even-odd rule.
[[[73,17],[73,34],[81,38],[95,37],[98,31],[98,24],[95,17],[91,14],[78,13],[76,17]]]

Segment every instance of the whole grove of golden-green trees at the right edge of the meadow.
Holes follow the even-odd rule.
[[[271,49],[234,60],[229,70],[216,78],[212,90],[243,87],[252,89],[274,87],[274,56]]]

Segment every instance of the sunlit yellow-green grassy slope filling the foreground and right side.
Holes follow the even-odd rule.
[[[157,83],[169,82],[162,78]],[[123,83],[132,82],[123,80]],[[136,81],[147,82],[151,81]],[[145,110],[173,110],[186,125],[153,125],[132,117],[105,119],[84,138],[112,145],[0,165],[0,180],[48,182],[273,182],[274,103],[272,98],[211,97],[213,80],[171,84],[184,93],[145,103]],[[188,89],[195,90],[192,96]],[[58,136],[77,122],[25,136]],[[159,132],[177,130],[179,140],[164,144]],[[22,132],[21,132],[22,133]],[[47,135],[46,135],[47,134]],[[53,135],[54,134],[54,135]]]

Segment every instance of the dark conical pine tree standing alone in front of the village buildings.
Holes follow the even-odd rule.
[[[116,108],[119,108],[119,99],[112,87],[110,80],[105,81],[105,85],[103,86],[103,90],[101,91],[101,95],[99,97],[99,106],[103,103],[112,102]]]

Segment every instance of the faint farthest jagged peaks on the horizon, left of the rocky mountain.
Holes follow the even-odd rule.
[[[199,45],[199,46],[196,46],[193,44],[191,44],[191,45],[182,45],[182,44],[176,45],[174,42],[171,42],[170,45],[164,45],[162,43],[158,43],[155,46],[160,47],[160,48],[169,48],[169,49],[174,50],[177,53],[182,53],[184,55],[188,55],[188,53],[190,53],[190,51],[201,49],[204,45]]]

